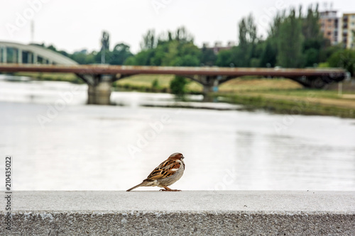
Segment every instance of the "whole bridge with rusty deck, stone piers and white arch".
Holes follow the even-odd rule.
[[[7,51],[13,50],[12,63],[7,63]],[[34,45],[0,42],[1,72],[55,72],[73,73],[88,84],[89,104],[109,104],[111,85],[119,79],[136,74],[175,74],[202,84],[203,94],[211,94],[214,88],[236,77],[285,77],[302,86],[322,88],[326,84],[340,82],[346,77],[344,69],[283,69],[283,68],[225,68],[225,67],[143,67],[114,66],[108,64],[82,65],[57,52]],[[23,63],[23,53],[27,53],[27,64]],[[14,57],[14,55],[17,55]],[[36,64],[41,57],[45,64]]]

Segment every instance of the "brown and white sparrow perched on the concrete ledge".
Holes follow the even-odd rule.
[[[144,179],[141,184],[138,184],[127,191],[131,191],[141,186],[158,186],[164,188],[160,189],[160,191],[181,191],[178,189],[169,189],[168,186],[174,184],[181,178],[182,174],[184,174],[185,163],[182,161],[184,158],[184,155],[180,152],[171,154],[168,159],[158,165],[158,167],[148,175],[147,179]]]

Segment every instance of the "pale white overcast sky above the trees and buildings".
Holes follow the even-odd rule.
[[[59,50],[99,50],[102,30],[111,36],[111,47],[126,43],[137,52],[143,33],[160,33],[185,26],[201,46],[236,41],[237,24],[253,13],[259,35],[266,35],[268,21],[276,9],[307,7],[307,0],[0,0],[0,41],[55,45]],[[325,9],[324,1],[319,2]],[[327,9],[330,7],[327,4]],[[354,0],[334,1],[333,9],[354,13]]]

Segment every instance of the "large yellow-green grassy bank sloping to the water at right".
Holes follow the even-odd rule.
[[[246,108],[273,113],[355,118],[355,86],[344,82],[339,94],[332,90],[304,89],[289,79],[234,79],[222,84],[217,96]]]

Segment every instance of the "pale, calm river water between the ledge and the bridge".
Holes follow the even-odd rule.
[[[85,85],[0,79],[0,166],[13,156],[13,190],[126,190],[182,152],[173,189],[355,191],[354,119],[140,106],[170,94],[86,99]]]

